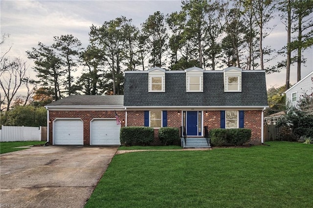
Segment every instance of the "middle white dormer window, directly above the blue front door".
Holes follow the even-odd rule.
[[[186,92],[203,92],[203,69],[192,67],[186,72]]]

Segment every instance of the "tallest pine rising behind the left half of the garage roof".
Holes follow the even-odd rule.
[[[54,47],[58,51],[58,55],[62,60],[67,71],[67,94],[72,93],[71,84],[73,83],[73,76],[71,72],[75,72],[77,69],[77,62],[79,61],[79,54],[82,50],[82,43],[73,35],[61,35],[53,37]]]

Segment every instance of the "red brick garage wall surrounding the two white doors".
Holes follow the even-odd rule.
[[[116,111],[119,119],[125,120],[125,111]],[[90,145],[90,121],[93,118],[115,118],[114,110],[49,110],[49,143],[53,144],[53,121],[57,118],[79,118],[84,123],[84,145]],[[121,123],[124,126],[125,123]]]

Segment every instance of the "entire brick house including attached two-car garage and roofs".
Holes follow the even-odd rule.
[[[123,100],[122,100],[123,99]],[[263,112],[268,107],[265,71],[192,67],[168,71],[126,71],[123,96],[69,96],[46,106],[51,144],[119,145],[119,125],[181,127],[187,146],[203,146],[204,129],[250,128],[250,143],[263,143]],[[79,126],[75,130],[75,126]],[[80,132],[70,142],[67,129]],[[110,139],[110,130],[116,139]],[[67,138],[68,137],[68,138]],[[112,140],[113,142],[108,142]],[[205,144],[206,142],[204,142]],[[183,144],[186,146],[186,144]],[[204,145],[209,146],[209,144]]]

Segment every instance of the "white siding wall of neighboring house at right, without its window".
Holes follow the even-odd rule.
[[[312,87],[313,83],[311,78],[313,77],[313,73],[311,76],[308,76],[304,78],[303,80],[300,80],[298,84],[294,85],[288,92],[286,92],[286,103],[289,101],[290,104],[293,106],[297,105],[297,101],[300,100],[301,95],[304,95],[305,93],[311,94],[312,93]],[[296,102],[291,102],[291,96],[292,93],[297,93],[297,101]]]

